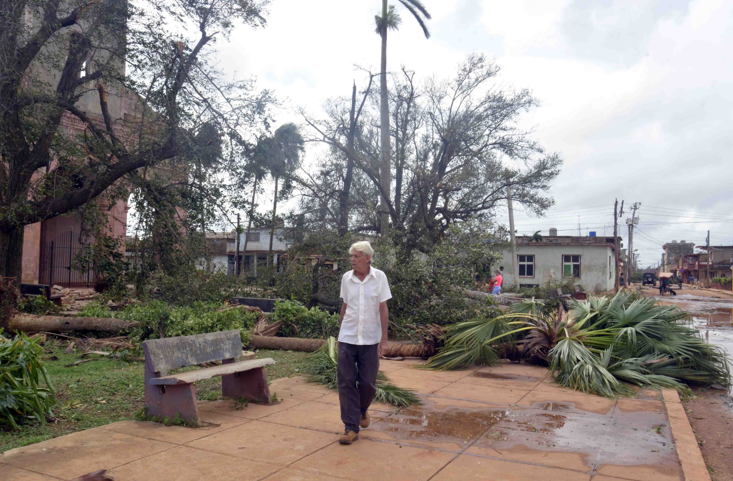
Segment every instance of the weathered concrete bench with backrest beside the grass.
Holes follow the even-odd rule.
[[[142,343],[145,352],[145,407],[147,414],[196,422],[194,383],[221,376],[221,394],[229,398],[248,398],[270,403],[265,366],[274,359],[239,361],[242,338],[239,331],[209,332],[178,338],[151,339]],[[221,361],[221,365],[185,373],[169,370]]]

